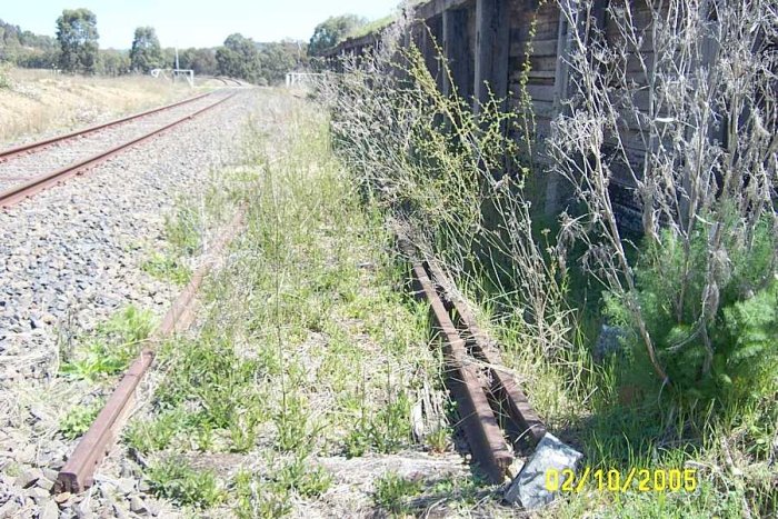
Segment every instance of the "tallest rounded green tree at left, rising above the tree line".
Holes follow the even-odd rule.
[[[66,9],[57,19],[59,64],[67,72],[93,73],[98,61],[97,17],[89,9]]]

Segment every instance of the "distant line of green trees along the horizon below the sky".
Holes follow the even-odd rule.
[[[286,73],[307,68],[347,37],[368,28],[355,14],[330,17],[316,27],[308,43],[282,40],[257,42],[230,34],[218,48],[178,51],[178,67],[197,76],[230,76],[257,84],[272,84]],[[100,49],[97,16],[89,9],[66,9],[57,19],[57,36],[34,34],[0,20],[0,62],[26,68],[58,68],[67,73],[120,76],[148,73],[176,66],[176,49],[163,48],[153,27],[134,31],[130,50]]]

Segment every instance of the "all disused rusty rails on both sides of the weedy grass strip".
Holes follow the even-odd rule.
[[[153,362],[153,346],[186,330],[193,320],[192,302],[216,258],[242,227],[240,211],[221,234],[210,257],[171,306],[162,323],[138,359],[117,385],[92,426],[59,472],[56,492],[78,493],[92,485],[93,473],[119,436],[134,405],[134,391]],[[447,385],[458,403],[461,428],[473,461],[493,483],[502,483],[518,452],[536,446],[546,427],[527,401],[511,372],[502,367],[496,345],[478,327],[469,307],[451,281],[431,261],[422,261],[408,242],[400,242],[411,262],[416,295],[425,298],[443,348]]]

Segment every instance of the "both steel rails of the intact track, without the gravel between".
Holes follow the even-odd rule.
[[[51,139],[46,139],[46,140],[42,140],[39,142],[33,142],[30,144],[24,144],[24,146],[9,149],[6,151],[0,151],[0,161],[6,161],[12,157],[20,156],[22,153],[34,153],[34,152],[38,152],[38,151],[40,151],[40,150],[42,150],[42,149],[44,149],[53,143],[66,142],[66,141],[69,141],[71,139],[80,138],[80,137],[83,137],[88,133],[93,133],[93,132],[97,132],[97,131],[100,131],[100,130],[103,130],[107,128],[116,127],[116,126],[126,123],[126,122],[131,121],[131,120],[137,120],[137,119],[144,118],[144,117],[148,117],[148,116],[153,114],[153,113],[159,113],[162,111],[171,110],[173,108],[191,103],[193,101],[203,99],[206,97],[210,97],[212,93],[213,92],[205,93],[201,96],[196,96],[193,98],[189,98],[189,99],[186,99],[183,101],[179,101],[179,102],[176,102],[172,104],[167,104],[164,107],[159,107],[159,108],[156,108],[152,110],[148,110],[146,112],[137,113],[134,116],[129,116],[129,117],[118,119],[114,121],[110,121],[110,122],[107,122],[103,124],[98,124],[96,127],[90,127],[90,128],[79,130],[76,132],[67,133],[67,134],[54,137]],[[223,103],[225,101],[231,99],[235,96],[236,96],[236,92],[230,93],[230,94],[221,98],[220,100],[218,100],[211,104],[206,106],[205,108],[201,108],[194,112],[188,113],[187,116],[179,118],[179,119],[176,119],[174,121],[169,122],[162,127],[158,127],[152,131],[144,132],[140,137],[136,137],[134,139],[131,139],[127,142],[122,142],[119,146],[111,147],[110,149],[103,150],[97,154],[79,159],[76,162],[70,163],[63,168],[59,168],[59,169],[56,169],[54,171],[49,171],[49,172],[39,174],[39,176],[33,177],[29,180],[24,180],[18,184],[11,186],[10,188],[8,188],[6,190],[0,191],[0,208],[2,208],[2,209],[9,208],[9,207],[12,207],[12,206],[21,202],[22,200],[26,200],[27,198],[33,197],[34,194],[39,193],[40,191],[43,191],[47,188],[56,186],[56,184],[73,177],[80,172],[83,172],[88,168],[97,166],[98,163],[103,162],[103,161],[110,159],[111,157],[114,157],[114,156],[117,156],[117,154],[119,154],[119,153],[141,143],[141,142],[144,142],[144,141],[147,141],[147,140],[149,140],[149,139],[151,139],[151,138],[153,138],[153,137],[156,137],[156,136],[158,136],[158,134],[160,134],[160,133],[162,133],[162,132],[164,132],[164,131],[167,131],[176,126],[179,126],[188,120],[191,120],[191,119],[198,117],[199,114],[201,114],[208,110],[211,110],[212,108]]]

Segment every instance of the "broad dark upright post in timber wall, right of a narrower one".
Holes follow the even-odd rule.
[[[476,3],[476,73],[475,112],[489,101],[508,94],[508,53],[510,27],[508,0],[477,0]]]

